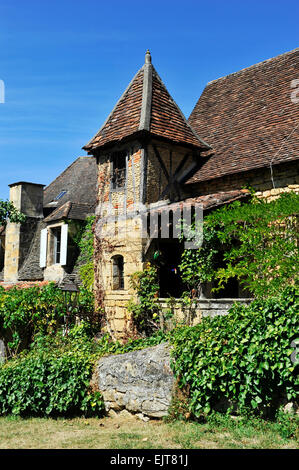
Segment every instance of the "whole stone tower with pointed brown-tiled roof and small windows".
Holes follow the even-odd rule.
[[[209,148],[168,93],[147,51],[143,67],[83,147],[98,162],[96,296],[116,336],[124,334],[129,320],[130,276],[143,269],[151,242],[141,228],[140,207],[182,200],[182,183]]]

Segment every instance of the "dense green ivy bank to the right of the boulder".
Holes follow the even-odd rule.
[[[204,318],[172,332],[173,368],[180,387],[190,387],[190,409],[199,417],[227,402],[267,413],[279,400],[298,399],[291,342],[298,331],[298,291],[236,304],[227,316]]]

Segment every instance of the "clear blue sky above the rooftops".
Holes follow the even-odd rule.
[[[85,155],[147,48],[188,117],[208,81],[297,47],[298,18],[291,0],[0,0],[0,198]]]

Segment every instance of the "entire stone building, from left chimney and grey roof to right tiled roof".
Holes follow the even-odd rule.
[[[10,185],[11,200],[28,219],[24,226],[1,229],[4,281],[71,275],[77,256],[72,234],[96,213],[95,292],[112,330],[121,335],[129,320],[130,276],[157,253],[163,260],[159,295],[177,297],[182,245],[174,236],[161,237],[164,214],[171,229],[186,204],[201,204],[205,214],[245,200],[248,187],[268,198],[298,191],[298,59],[295,49],[209,82],[187,120],[148,51],[99,132],[83,147],[87,157],[79,157],[46,188]],[[152,222],[148,213],[144,220],[144,208],[160,236],[148,230]],[[231,284],[222,295],[246,293]]]

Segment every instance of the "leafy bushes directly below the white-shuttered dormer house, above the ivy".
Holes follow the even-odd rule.
[[[53,283],[6,291],[0,287],[0,331],[8,338],[11,356],[18,352],[20,346],[28,347],[37,333],[54,334],[61,328],[65,315],[69,324],[73,324],[76,317],[93,323],[92,294],[81,289],[77,305],[66,308],[63,292]]]

